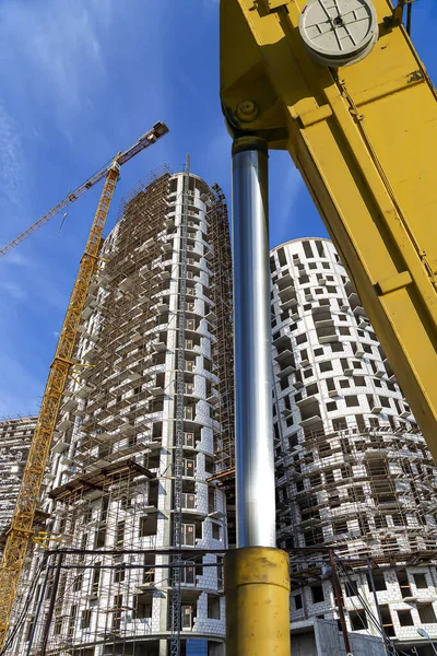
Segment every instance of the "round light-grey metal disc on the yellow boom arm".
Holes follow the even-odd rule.
[[[378,39],[371,0],[309,0],[302,10],[299,32],[312,59],[322,66],[355,63]]]

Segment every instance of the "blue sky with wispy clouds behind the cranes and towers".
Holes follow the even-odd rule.
[[[0,0],[0,244],[118,150],[164,120],[172,132],[128,163],[128,189],[167,162],[229,196],[218,102],[217,0]],[[437,79],[437,7],[418,0],[413,38]],[[286,153],[271,154],[271,245],[326,231]],[[0,260],[0,417],[37,411],[101,189]]]

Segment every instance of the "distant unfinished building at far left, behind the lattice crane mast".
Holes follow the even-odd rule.
[[[37,417],[0,421],[0,549],[11,522]]]

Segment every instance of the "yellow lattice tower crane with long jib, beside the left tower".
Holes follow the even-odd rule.
[[[152,130],[140,137],[137,143],[125,152],[118,153],[109,164],[105,165],[98,173],[73,191],[73,194],[69,194],[68,197],[52,210],[0,251],[0,257],[9,253],[28,235],[52,219],[52,216],[69,203],[73,202],[87,191],[87,189],[94,187],[101,179],[106,178],[63,320],[55,359],[50,365],[50,373],[44,391],[38,421],[32,440],[15,511],[12,516],[11,527],[8,532],[3,557],[0,563],[0,647],[4,644],[7,637],[10,617],[16,597],[17,584],[23,570],[28,543],[33,536],[33,522],[36,504],[39,497],[39,489],[50,452],[61,395],[67,376],[73,364],[71,359],[78,336],[81,313],[83,311],[91,277],[94,272],[96,262],[98,261],[102,234],[119,177],[120,166],[155,143],[167,132],[168,128],[165,124],[157,122],[154,125]]]

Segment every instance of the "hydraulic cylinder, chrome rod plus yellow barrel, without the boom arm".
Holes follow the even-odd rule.
[[[290,655],[288,558],[275,549],[267,143],[233,147],[238,549],[225,557],[227,656]]]

